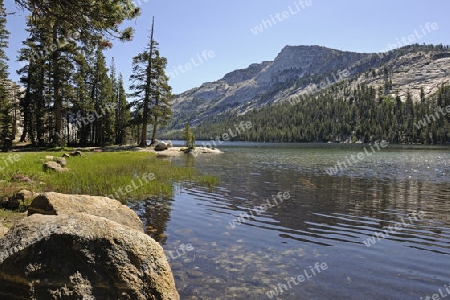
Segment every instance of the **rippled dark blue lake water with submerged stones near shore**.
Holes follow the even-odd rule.
[[[217,187],[131,205],[181,299],[450,299],[450,148],[219,148],[173,159]]]

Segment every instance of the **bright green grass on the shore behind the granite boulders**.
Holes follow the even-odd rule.
[[[34,192],[113,195],[113,198],[126,202],[150,197],[171,197],[174,182],[193,181],[212,187],[218,181],[212,176],[200,176],[194,169],[178,167],[170,161],[158,159],[149,152],[84,152],[81,157],[67,158],[68,172],[43,171],[47,155],[58,158],[62,154],[0,154],[0,197],[28,189]],[[11,160],[14,162],[11,163]],[[144,174],[151,173],[155,175],[154,180],[142,179]],[[23,177],[30,181],[21,180]]]

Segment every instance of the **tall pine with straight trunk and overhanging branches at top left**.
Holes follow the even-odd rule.
[[[64,72],[61,58],[67,39],[111,46],[104,38],[119,37],[130,40],[132,28],[120,29],[125,19],[132,19],[139,15],[131,1],[25,1],[16,2],[32,11],[49,31],[48,38],[43,41],[45,56],[50,58],[53,104],[53,130],[51,132],[53,144],[60,144],[63,133],[64,115]]]

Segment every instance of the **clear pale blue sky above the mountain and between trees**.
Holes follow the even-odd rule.
[[[448,0],[134,0],[138,19],[131,42],[113,41],[105,51],[128,86],[132,57],[154,39],[167,58],[166,73],[175,94],[252,63],[274,60],[286,45],[320,45],[353,52],[382,52],[411,43],[450,45]],[[10,78],[18,81],[16,61],[27,38],[28,14],[5,0],[11,32]],[[413,42],[411,42],[413,41]]]

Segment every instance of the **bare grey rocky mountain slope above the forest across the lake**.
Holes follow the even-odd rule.
[[[421,88],[428,95],[449,82],[449,69],[450,49],[443,46],[412,45],[389,53],[286,46],[273,61],[252,64],[177,95],[169,129],[181,129],[186,121],[195,126],[229,113],[245,114],[342,80],[386,89],[402,99],[409,90],[417,101]]]

